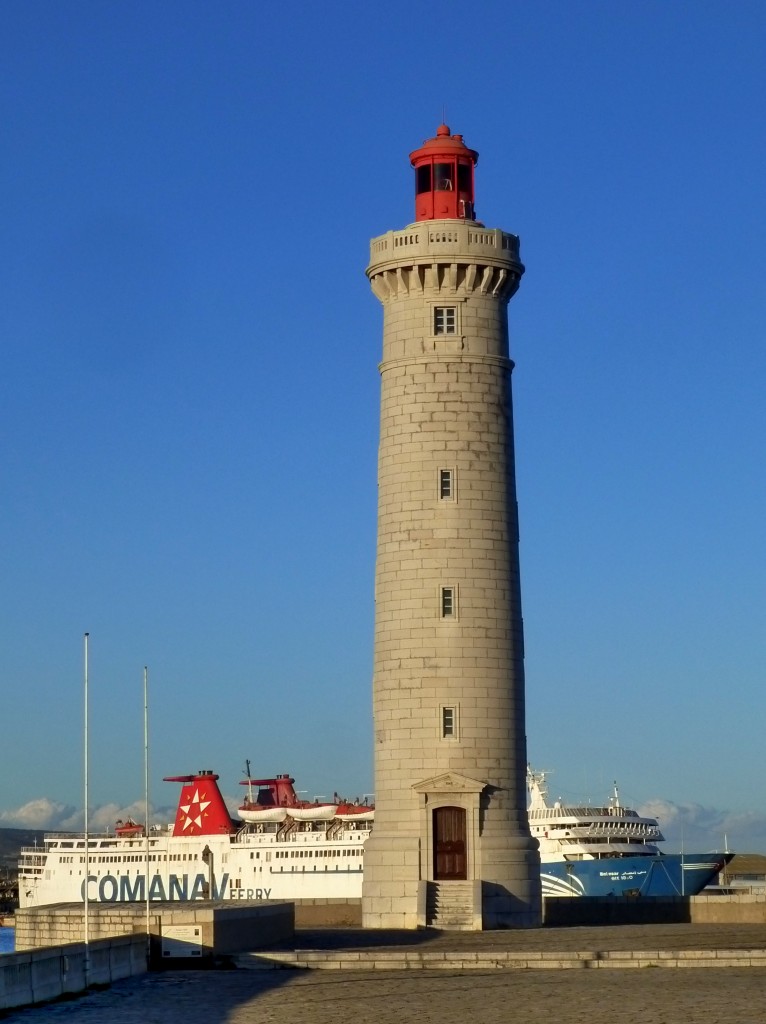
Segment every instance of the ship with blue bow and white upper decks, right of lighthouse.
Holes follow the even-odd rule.
[[[529,828],[540,843],[544,896],[695,896],[729,853],[663,853],[655,818],[623,806],[548,803],[546,772],[527,770]]]

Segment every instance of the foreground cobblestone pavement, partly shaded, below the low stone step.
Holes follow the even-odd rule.
[[[13,1024],[763,1024],[758,969],[211,971],[118,982]]]

